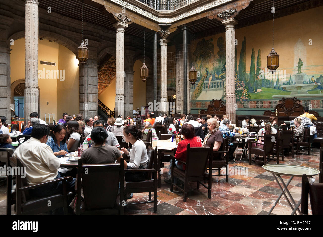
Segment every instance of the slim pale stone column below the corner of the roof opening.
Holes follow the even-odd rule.
[[[168,113],[167,108],[167,43],[165,38],[161,41],[161,113]]]

